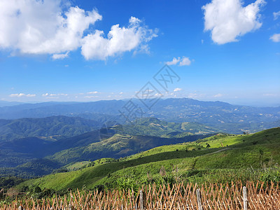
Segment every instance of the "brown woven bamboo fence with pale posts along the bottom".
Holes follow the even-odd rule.
[[[139,190],[71,192],[64,197],[27,198],[1,209],[280,209],[279,183],[247,182],[144,186]]]

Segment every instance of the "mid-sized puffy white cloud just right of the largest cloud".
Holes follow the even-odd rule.
[[[113,25],[107,37],[99,30],[87,34],[83,38],[82,55],[85,59],[105,60],[125,51],[141,49],[156,36],[155,31],[141,24],[141,20],[131,17],[128,27]]]

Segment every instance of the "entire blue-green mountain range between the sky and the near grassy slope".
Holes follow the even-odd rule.
[[[280,125],[280,107],[256,108],[195,99],[160,99],[143,118],[120,116],[127,102],[45,102],[0,107],[0,176],[50,174],[77,161],[123,158],[157,146],[218,133]]]

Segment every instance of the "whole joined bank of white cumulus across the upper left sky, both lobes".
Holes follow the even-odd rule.
[[[128,27],[113,25],[104,38],[103,31],[92,32],[91,26],[102,20],[97,10],[85,11],[64,2],[1,0],[0,49],[13,54],[49,54],[52,59],[64,59],[72,50],[82,48],[86,59],[106,59],[119,52],[137,50],[156,36],[132,17]],[[99,49],[102,51],[95,52]]]

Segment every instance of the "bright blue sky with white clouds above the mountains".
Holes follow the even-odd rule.
[[[0,1],[0,100],[162,97],[280,106],[280,1]],[[160,87],[159,87],[160,88]]]

